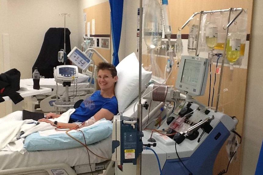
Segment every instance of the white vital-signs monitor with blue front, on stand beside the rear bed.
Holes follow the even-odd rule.
[[[78,77],[78,68],[74,65],[59,65],[53,68],[53,74],[57,83],[73,82]]]

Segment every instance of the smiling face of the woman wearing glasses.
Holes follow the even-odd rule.
[[[97,80],[101,90],[108,90],[111,88],[114,90],[114,85],[117,81],[117,76],[112,77],[109,70],[100,69],[98,72]]]

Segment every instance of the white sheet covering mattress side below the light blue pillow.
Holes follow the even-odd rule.
[[[88,145],[88,148],[99,156],[111,159],[111,135],[99,142]],[[100,163],[106,159],[89,152],[90,163]],[[87,149],[83,147],[56,150],[20,152],[0,151],[0,170],[37,166],[52,163],[66,163],[69,166],[89,164]]]

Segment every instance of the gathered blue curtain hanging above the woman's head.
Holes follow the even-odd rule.
[[[117,66],[119,64],[119,46],[121,40],[121,23],[123,12],[123,0],[109,0],[110,2],[110,19],[111,19],[111,33],[113,42],[113,61],[112,64]]]

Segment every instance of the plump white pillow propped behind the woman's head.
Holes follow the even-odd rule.
[[[115,85],[115,96],[118,110],[123,112],[139,96],[139,61],[133,52],[116,66],[118,81]],[[142,91],[150,81],[152,72],[142,68]]]

